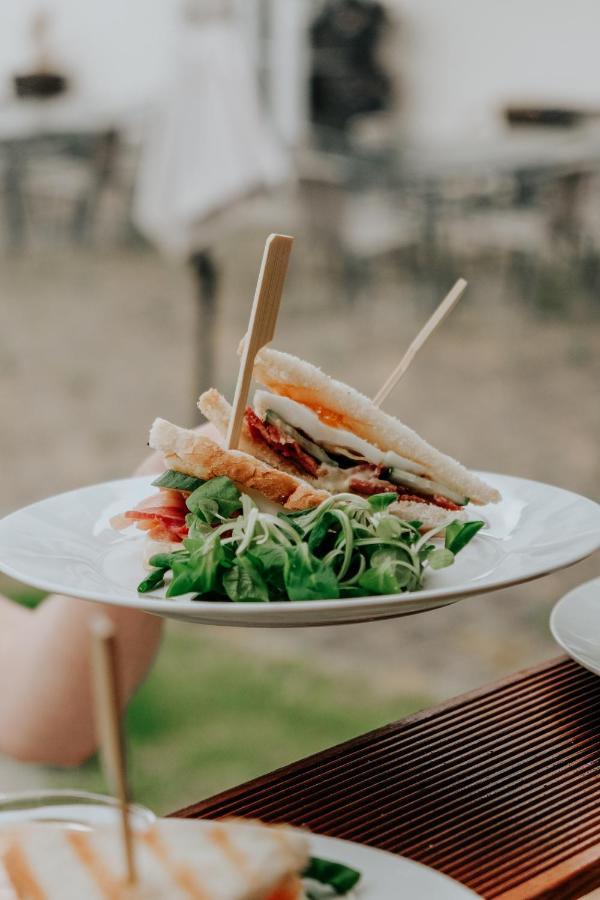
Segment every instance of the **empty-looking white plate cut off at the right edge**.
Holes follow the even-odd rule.
[[[569,656],[600,675],[600,578],[580,584],[558,601],[550,631]]]

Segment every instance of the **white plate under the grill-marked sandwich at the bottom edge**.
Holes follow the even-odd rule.
[[[310,850],[313,856],[358,869],[362,877],[353,900],[473,900],[479,896],[435,869],[364,844],[313,834]]]

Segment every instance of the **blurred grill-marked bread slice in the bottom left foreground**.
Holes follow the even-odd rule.
[[[163,819],[135,833],[134,849],[138,883],[130,886],[117,827],[24,823],[0,836],[0,859],[22,900],[269,900],[299,885],[308,859],[303,835],[241,821]]]

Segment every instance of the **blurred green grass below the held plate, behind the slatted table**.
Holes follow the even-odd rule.
[[[20,586],[10,593],[39,602]],[[170,626],[127,715],[133,795],[169,812],[427,705],[424,697],[382,698],[358,674],[324,674],[314,657],[305,665],[274,660],[226,634]],[[105,791],[96,759],[47,774],[48,786]]]

